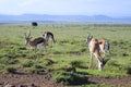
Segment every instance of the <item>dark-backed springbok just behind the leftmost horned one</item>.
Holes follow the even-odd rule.
[[[47,42],[48,42],[48,40],[50,39],[52,46],[53,46],[53,44],[56,42],[56,41],[55,41],[53,34],[52,34],[51,32],[45,32],[45,33],[43,34],[43,37],[46,39]]]

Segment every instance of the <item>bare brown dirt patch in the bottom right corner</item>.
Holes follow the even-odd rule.
[[[88,82],[94,84],[100,83],[105,85],[110,85],[112,87],[131,87],[131,76],[88,76]]]

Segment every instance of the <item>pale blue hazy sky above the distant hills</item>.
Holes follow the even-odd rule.
[[[131,0],[0,0],[0,14],[131,16]]]

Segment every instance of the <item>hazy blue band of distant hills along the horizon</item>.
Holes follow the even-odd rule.
[[[131,17],[110,17],[106,15],[47,15],[47,14],[23,14],[23,15],[2,15],[0,23],[56,23],[56,22],[83,22],[83,23],[131,23]]]

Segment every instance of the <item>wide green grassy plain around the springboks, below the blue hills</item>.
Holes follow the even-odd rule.
[[[24,33],[31,30],[32,37],[43,32],[52,32],[56,45],[47,46],[47,52],[31,52],[24,46]],[[85,39],[91,33],[97,39],[105,38],[110,44],[111,54],[102,54],[109,61],[99,72],[95,66],[88,70],[90,52]],[[33,29],[31,25],[0,25],[0,71],[15,73],[52,72],[52,80],[74,84],[86,75],[116,76],[131,74],[131,25],[123,24],[43,24]],[[70,82],[69,82],[70,80]],[[82,83],[82,82],[80,82]]]

